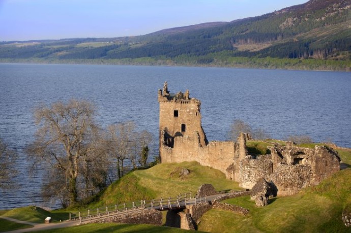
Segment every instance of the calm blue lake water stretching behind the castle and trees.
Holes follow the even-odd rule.
[[[0,137],[20,155],[21,188],[0,192],[0,209],[50,206],[40,199],[41,177],[29,178],[23,150],[33,140],[33,109],[40,103],[87,99],[102,126],[134,120],[154,135],[157,155],[157,90],[190,89],[201,100],[210,141],[225,140],[234,119],[265,129],[273,138],[309,135],[351,147],[351,74],[166,66],[0,64]]]

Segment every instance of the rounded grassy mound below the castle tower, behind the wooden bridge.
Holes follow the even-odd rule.
[[[188,176],[180,176],[181,169],[188,169]],[[160,197],[194,195],[201,184],[212,184],[217,191],[240,189],[237,182],[227,180],[217,169],[203,167],[198,162],[161,163],[147,170],[137,170],[114,182],[90,207],[116,203],[151,200]]]

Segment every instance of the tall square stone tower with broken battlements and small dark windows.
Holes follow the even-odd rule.
[[[160,144],[173,148],[174,138],[193,136],[197,132],[201,146],[208,144],[206,135],[201,126],[200,105],[196,98],[189,97],[189,90],[185,94],[179,92],[171,96],[167,82],[163,90],[158,91],[160,104]]]

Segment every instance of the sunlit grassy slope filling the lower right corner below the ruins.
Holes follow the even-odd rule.
[[[211,210],[201,218],[198,229],[211,232],[351,232],[341,220],[343,208],[351,204],[351,169],[334,174],[299,194],[272,199],[256,207],[249,196],[226,202],[250,210],[242,216]]]

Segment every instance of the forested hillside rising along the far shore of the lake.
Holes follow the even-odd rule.
[[[0,61],[350,70],[351,0],[123,38],[2,42]]]

